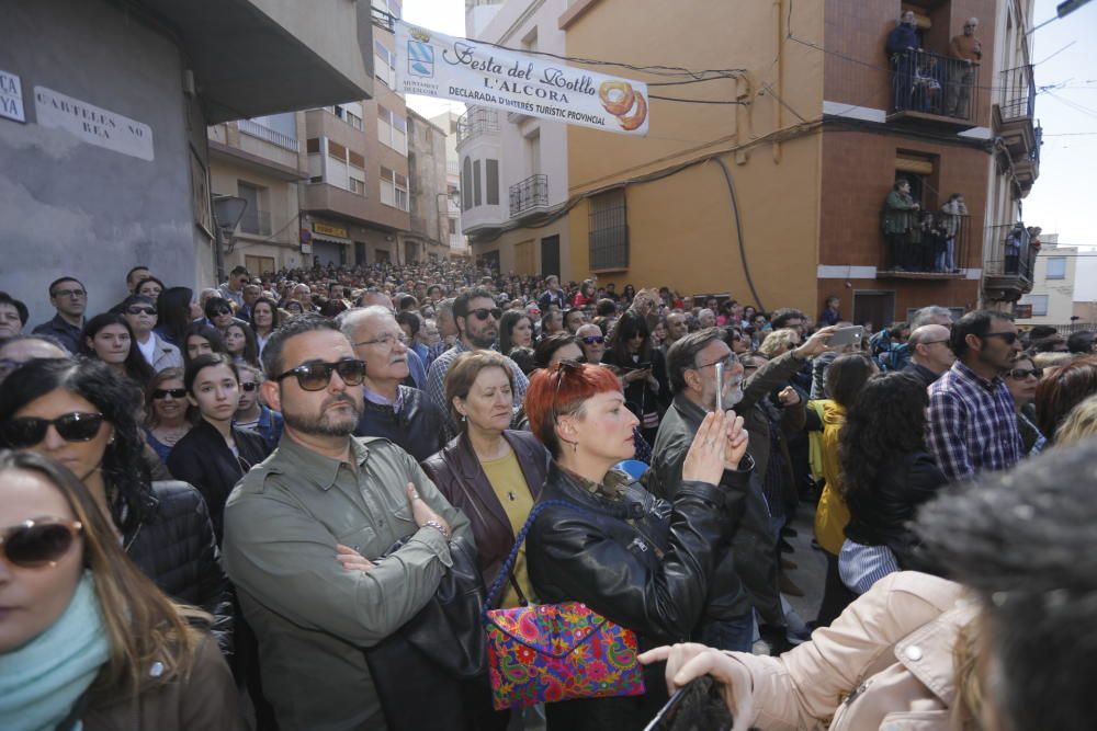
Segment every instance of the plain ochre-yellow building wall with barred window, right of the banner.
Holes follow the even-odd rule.
[[[746,69],[740,79],[653,87],[654,94],[750,102],[735,106],[653,100],[646,138],[573,127],[568,179],[572,195],[585,194],[738,148],[720,157],[735,180],[743,243],[758,296],[747,285],[731,197],[715,162],[627,186],[629,269],[602,273],[600,283],[614,282],[618,292],[625,283],[636,288],[667,285],[690,294],[731,292],[744,302],[757,305],[760,299],[766,308],[814,308],[818,135],[808,132],[789,141],[745,147],[796,125],[800,121],[787,107],[808,119],[822,110],[822,55],[787,38],[788,14],[787,0],[694,2],[689,12],[655,0],[601,0],[586,5],[567,25],[569,56],[627,58],[637,66]],[[798,34],[822,37],[817,3],[798,2],[792,15]],[[651,38],[658,42],[647,42]],[[620,73],[668,80],[630,70]],[[768,84],[776,95],[762,93]],[[589,271],[588,204],[575,207],[569,220],[570,277],[583,278]]]

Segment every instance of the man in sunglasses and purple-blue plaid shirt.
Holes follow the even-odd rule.
[[[1013,318],[969,312],[952,325],[957,362],[929,387],[929,449],[950,480],[1008,469],[1024,455],[1014,397],[1002,379],[1021,351]]]

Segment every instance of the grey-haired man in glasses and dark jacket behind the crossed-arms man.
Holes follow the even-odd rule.
[[[442,413],[408,377],[408,340],[384,307],[343,312],[339,327],[365,363],[365,397],[355,436],[383,436],[422,461],[445,446]]]

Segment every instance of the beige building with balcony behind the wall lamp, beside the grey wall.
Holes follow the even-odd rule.
[[[225,242],[225,269],[253,274],[296,269],[301,253],[299,189],[308,180],[301,146],[305,115],[283,112],[208,129],[210,187],[248,202]]]

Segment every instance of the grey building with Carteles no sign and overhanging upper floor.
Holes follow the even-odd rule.
[[[118,301],[136,264],[215,284],[207,128],[373,94],[370,12],[344,0],[223,0],[215,13],[168,0],[9,4],[0,289],[26,300],[32,325],[52,313],[47,285],[61,273],[84,283],[89,312]]]

